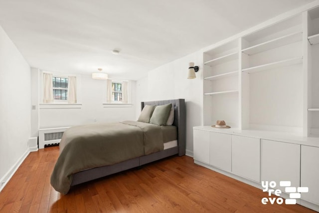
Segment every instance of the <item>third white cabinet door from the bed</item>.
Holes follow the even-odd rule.
[[[232,136],[232,172],[260,182],[260,139]]]

